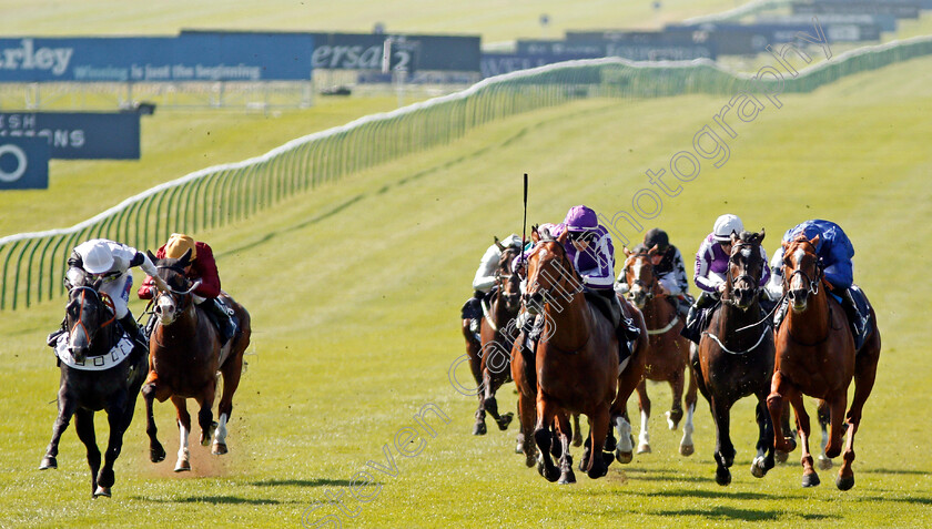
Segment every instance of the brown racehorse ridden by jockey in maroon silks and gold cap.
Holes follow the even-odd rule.
[[[243,370],[243,354],[250,344],[252,329],[250,314],[242,305],[225,293],[221,296],[234,311],[239,322],[236,334],[221,349],[220,333],[197,308],[192,292],[197,284],[185,277],[184,268],[190,264],[191,251],[178,260],[156,260],[159,275],[165,279],[170,292],[159,292],[155,299],[158,316],[152,337],[149,342],[149,377],[142,388],[145,399],[146,433],[150,440],[150,459],[159,462],[165,459],[165,450],[156,436],[152,403],[172,399],[178,411],[180,447],[175,471],[191,469],[188,450],[188,436],[191,433],[191,415],[185,399],[194,398],[201,409],[197,423],[201,425],[201,446],[207,446],[211,437],[216,436],[211,450],[214,455],[226,454],[226,421],[233,410],[233,393],[240,385]],[[216,394],[217,370],[223,375],[223,394],[217,414],[220,421],[213,421],[211,407]]]

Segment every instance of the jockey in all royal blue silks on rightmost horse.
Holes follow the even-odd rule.
[[[864,293],[854,284],[854,269],[851,263],[851,258],[854,256],[854,246],[841,230],[841,226],[831,221],[817,218],[798,224],[783,234],[783,242],[792,242],[800,235],[810,241],[817,235],[819,236],[816,253],[819,256],[824,282],[829,284],[829,293],[835,296],[835,299],[844,308],[848,322],[851,325],[851,332],[854,335],[854,349],[860,349],[867,339],[870,305]],[[782,246],[777,251],[773,260],[779,264],[778,267],[773,268],[773,272],[780,275],[780,283],[782,284]],[[788,305],[789,299],[784,298],[780,309],[773,316],[774,327],[780,326],[787,314]]]

